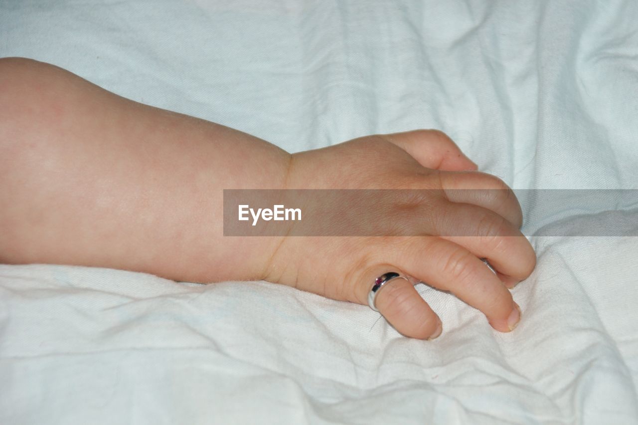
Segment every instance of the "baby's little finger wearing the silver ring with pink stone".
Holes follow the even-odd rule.
[[[356,299],[367,304],[367,294],[375,283],[375,278],[389,271],[398,271],[392,265],[372,267],[364,273],[358,286]],[[395,278],[383,285],[376,295],[375,306],[387,322],[397,332],[410,338],[434,339],[441,334],[443,326],[440,318],[422,299],[413,283]]]

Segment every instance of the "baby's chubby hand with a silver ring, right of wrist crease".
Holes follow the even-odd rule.
[[[482,311],[498,331],[516,326],[520,310],[508,288],[527,278],[536,263],[519,232],[521,207],[505,183],[477,172],[440,131],[373,135],[294,154],[286,188],[427,191],[372,216],[389,234],[399,227],[407,236],[285,237],[269,261],[266,280],[367,305],[375,278],[400,271],[452,292]],[[496,274],[480,258],[487,258]],[[376,306],[405,336],[440,334],[440,319],[405,280],[390,281]]]

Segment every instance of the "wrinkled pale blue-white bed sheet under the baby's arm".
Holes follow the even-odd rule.
[[[0,56],[289,151],[439,128],[517,189],[635,189],[636,22],[631,0],[0,0]],[[435,341],[265,282],[0,265],[0,422],[637,423],[638,224],[559,213],[575,236],[531,237],[511,334],[425,287]]]

